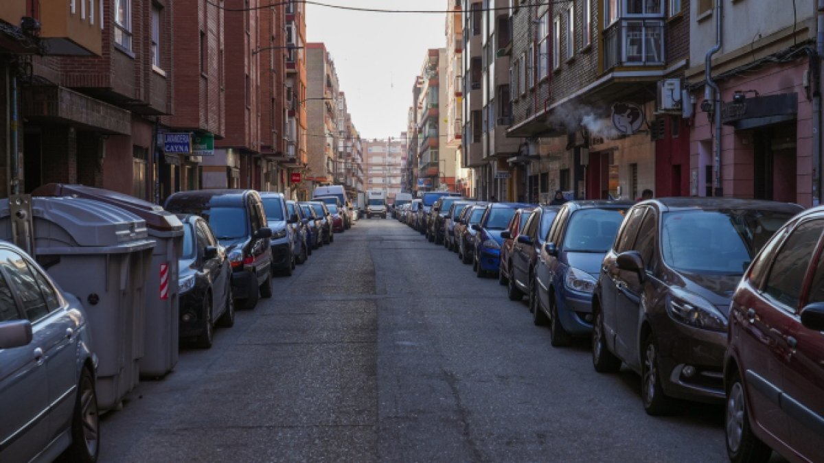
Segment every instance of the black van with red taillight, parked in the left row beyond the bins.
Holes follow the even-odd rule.
[[[181,191],[166,199],[166,210],[206,219],[232,264],[232,296],[239,307],[253,309],[260,297],[272,297],[272,252],[266,214],[254,189]]]

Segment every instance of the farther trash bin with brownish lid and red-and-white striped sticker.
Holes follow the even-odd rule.
[[[32,195],[95,199],[123,208],[146,221],[148,235],[156,245],[146,283],[144,351],[140,360],[140,375],[157,377],[171,372],[177,364],[180,341],[177,288],[177,264],[183,251],[183,223],[180,219],[157,204],[110,189],[53,183],[40,186]]]

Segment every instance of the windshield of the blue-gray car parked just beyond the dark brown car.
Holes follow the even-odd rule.
[[[567,225],[564,250],[606,252],[616,239],[625,209],[583,209],[574,213]]]

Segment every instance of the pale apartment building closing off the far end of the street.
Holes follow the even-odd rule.
[[[401,176],[406,163],[406,143],[405,133],[399,138],[363,140],[366,189],[383,190],[389,203],[394,203],[396,194],[403,191]]]

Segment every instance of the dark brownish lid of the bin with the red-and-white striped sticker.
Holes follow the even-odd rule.
[[[42,185],[31,192],[32,196],[71,196],[73,198],[95,199],[102,203],[109,203],[123,208],[134,215],[143,218],[150,235],[154,232],[170,232],[170,236],[183,235],[183,223],[174,213],[166,211],[162,206],[149,203],[128,194],[119,193],[110,189],[95,188],[86,185],[68,185],[49,183]]]

